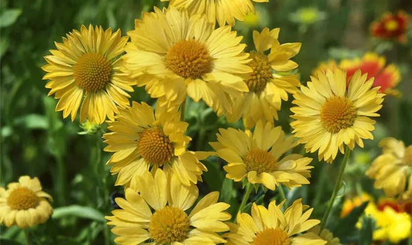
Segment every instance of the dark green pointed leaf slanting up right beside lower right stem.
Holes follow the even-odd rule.
[[[368,201],[363,202],[360,206],[354,208],[347,216],[343,219],[339,219],[335,222],[334,227],[331,229],[331,232],[340,239],[348,237],[355,233],[356,223],[359,221],[360,216],[368,205]],[[345,227],[342,229],[342,227]]]

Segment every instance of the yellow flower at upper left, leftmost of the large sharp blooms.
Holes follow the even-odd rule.
[[[135,84],[128,74],[120,71],[128,37],[122,37],[120,29],[112,33],[102,26],[89,25],[73,30],[63,38],[63,43],[55,43],[57,50],[50,50],[47,65],[42,69],[48,72],[43,79],[50,79],[46,88],[49,96],[59,99],[56,111],[63,111],[63,118],[71,115],[75,120],[80,108],[80,122],[86,118],[91,123],[102,124],[106,116],[112,120],[117,113],[116,105],[129,105],[131,85]],[[85,95],[83,99],[83,95]]]

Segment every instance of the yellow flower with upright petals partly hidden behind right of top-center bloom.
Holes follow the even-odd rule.
[[[273,122],[278,120],[282,99],[287,100],[287,93],[296,93],[301,85],[298,75],[281,76],[276,72],[287,72],[298,67],[289,60],[300,50],[300,43],[280,45],[279,28],[269,31],[264,28],[261,33],[253,32],[253,40],[257,51],[250,53],[252,62],[248,66],[251,73],[242,75],[248,85],[249,92],[243,98],[235,98],[233,112],[228,113],[228,122],[236,122],[243,116],[243,124],[251,128],[258,120]],[[268,55],[264,51],[270,49]]]

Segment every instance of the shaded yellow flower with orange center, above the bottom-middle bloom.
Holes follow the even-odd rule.
[[[114,152],[107,164],[118,173],[116,185],[133,185],[135,175],[163,168],[173,172],[185,185],[202,180],[207,171],[193,151],[186,151],[191,138],[185,136],[188,123],[180,122],[180,112],[165,112],[156,107],[155,115],[148,104],[132,102],[131,107],[119,109],[115,121],[108,122],[103,135],[105,151]]]

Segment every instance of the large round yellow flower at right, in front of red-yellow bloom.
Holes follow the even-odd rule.
[[[306,152],[318,150],[319,161],[332,163],[337,151],[344,153],[344,145],[351,150],[355,143],[363,147],[362,139],[373,139],[370,131],[382,107],[384,94],[379,87],[372,88],[373,78],[366,81],[367,74],[358,70],[346,89],[346,73],[340,69],[318,72],[318,78],[311,76],[311,82],[301,86],[301,92],[294,94],[290,110],[296,121],[290,123],[292,133],[305,144]]]

